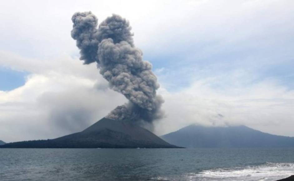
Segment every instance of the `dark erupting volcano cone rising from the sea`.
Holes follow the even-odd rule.
[[[103,118],[82,132],[56,139],[8,143],[0,148],[177,148],[133,124]]]

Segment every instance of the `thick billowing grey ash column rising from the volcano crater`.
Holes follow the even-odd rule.
[[[110,87],[129,100],[107,117],[147,122],[162,118],[160,107],[164,101],[156,95],[157,78],[152,65],[142,60],[142,51],[134,46],[129,22],[113,14],[97,28],[97,17],[91,12],[75,13],[72,22],[71,34],[80,49],[80,59],[85,64],[96,61]]]

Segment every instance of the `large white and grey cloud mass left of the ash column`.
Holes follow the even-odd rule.
[[[95,64],[68,56],[41,61],[1,52],[0,57],[7,67],[31,72],[24,86],[0,91],[0,137],[7,142],[81,131],[126,102],[105,88]]]

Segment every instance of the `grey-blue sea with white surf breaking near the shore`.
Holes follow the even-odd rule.
[[[294,148],[0,149],[0,180],[277,180]]]

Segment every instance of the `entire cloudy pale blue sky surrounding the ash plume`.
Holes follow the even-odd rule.
[[[190,124],[247,125],[294,136],[292,0],[3,1],[0,139],[81,131],[127,99],[83,65],[71,17],[129,20],[165,100],[163,135]]]

